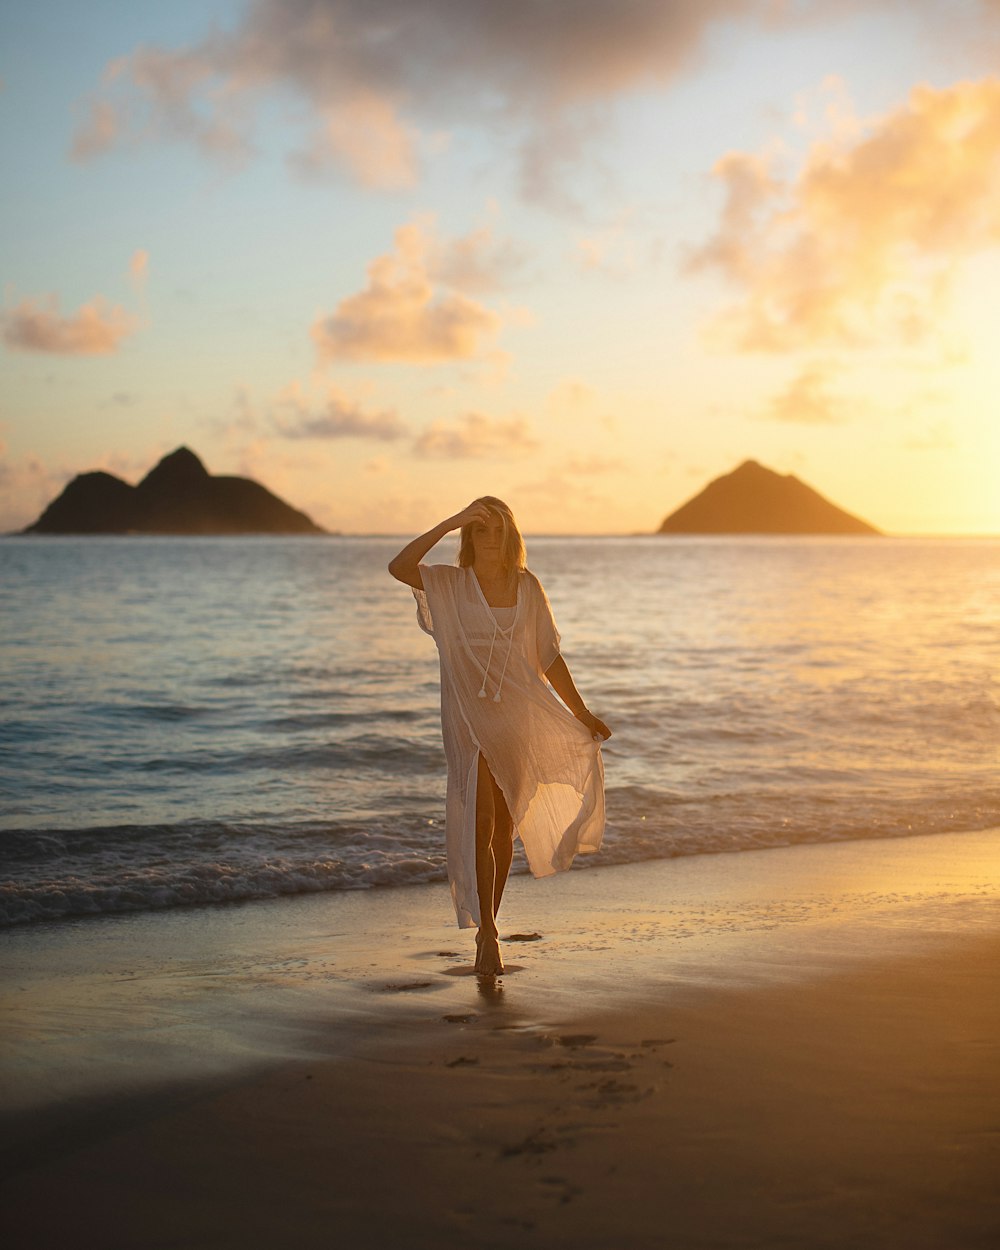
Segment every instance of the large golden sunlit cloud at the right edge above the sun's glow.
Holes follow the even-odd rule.
[[[740,300],[712,326],[742,351],[919,344],[954,274],[1000,242],[1000,78],[918,86],[855,126],[842,119],[801,168],[729,152],[726,202],[686,269],[721,272]]]

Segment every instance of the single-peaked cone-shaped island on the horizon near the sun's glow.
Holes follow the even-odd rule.
[[[658,534],[878,534],[799,481],[756,460],[716,478],[671,512]]]

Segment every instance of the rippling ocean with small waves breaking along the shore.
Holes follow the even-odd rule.
[[[404,541],[1,540],[0,924],[445,880]],[[615,731],[588,871],[1000,825],[1000,540],[528,554]]]

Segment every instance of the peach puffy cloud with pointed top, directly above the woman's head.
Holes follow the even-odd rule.
[[[395,244],[369,265],[365,290],[312,325],[319,359],[430,365],[480,356],[500,318],[459,290],[435,288],[435,244],[421,222],[400,226]]]

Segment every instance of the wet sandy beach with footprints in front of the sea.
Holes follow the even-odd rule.
[[[992,1246],[1000,830],[9,932],[5,1244]]]

